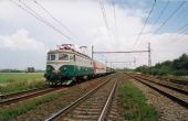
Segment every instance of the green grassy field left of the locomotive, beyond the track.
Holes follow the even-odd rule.
[[[0,73],[0,95],[44,86],[43,73]]]

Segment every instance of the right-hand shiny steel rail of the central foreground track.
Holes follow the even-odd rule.
[[[101,116],[100,116],[97,121],[104,121],[105,120],[105,117],[106,117],[106,113],[107,113],[107,109],[108,109],[109,103],[111,103],[111,101],[113,99],[113,95],[115,92],[116,86],[117,86],[117,79],[116,79],[116,81],[115,81],[115,84],[113,86],[113,89],[112,89],[112,91],[111,91],[111,94],[109,94],[109,96],[107,98],[107,101],[106,101],[106,103],[105,103],[105,106],[104,106],[104,108],[103,108],[103,110],[101,112]]]

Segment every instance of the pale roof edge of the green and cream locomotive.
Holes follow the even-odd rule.
[[[77,54],[77,55],[82,55],[84,57],[87,57],[87,58],[91,58],[88,55],[85,55],[83,53],[80,53],[77,51],[74,51],[74,50],[53,50],[53,51],[49,51],[48,54],[54,54],[54,53],[74,53],[74,54]]]

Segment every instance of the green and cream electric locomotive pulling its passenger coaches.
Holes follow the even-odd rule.
[[[76,51],[73,44],[62,44],[48,52],[44,77],[49,85],[71,85],[115,73],[88,55]]]

